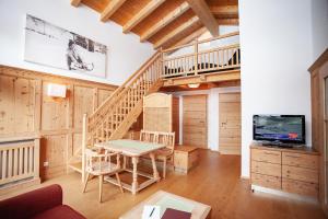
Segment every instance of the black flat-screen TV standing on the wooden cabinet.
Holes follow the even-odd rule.
[[[253,138],[262,141],[305,143],[305,116],[254,115]]]

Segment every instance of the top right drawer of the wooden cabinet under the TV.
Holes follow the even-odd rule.
[[[318,169],[319,160],[317,155],[282,152],[282,164],[298,168]]]

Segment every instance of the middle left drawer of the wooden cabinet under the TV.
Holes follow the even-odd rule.
[[[281,165],[276,163],[251,161],[251,172],[281,177]]]

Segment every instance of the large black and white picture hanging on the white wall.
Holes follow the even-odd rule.
[[[103,44],[26,15],[25,61],[105,78],[106,54]]]

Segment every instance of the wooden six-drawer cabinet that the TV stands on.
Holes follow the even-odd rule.
[[[319,153],[312,148],[250,146],[250,184],[318,198]],[[254,186],[255,185],[255,186]]]

